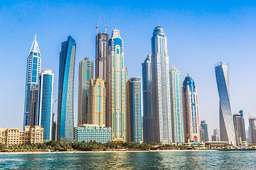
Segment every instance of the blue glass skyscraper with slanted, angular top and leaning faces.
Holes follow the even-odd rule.
[[[71,36],[62,42],[58,81],[58,141],[72,142],[74,139],[75,49],[76,42]]]

